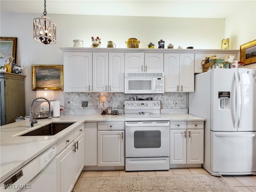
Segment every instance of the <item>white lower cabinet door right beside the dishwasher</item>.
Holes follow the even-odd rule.
[[[59,155],[57,155],[57,191],[70,192],[74,187],[74,158],[73,145],[70,143]]]

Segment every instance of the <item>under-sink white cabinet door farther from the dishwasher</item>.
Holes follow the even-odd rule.
[[[74,140],[76,151],[74,151],[74,183],[77,181],[84,168],[84,132]]]

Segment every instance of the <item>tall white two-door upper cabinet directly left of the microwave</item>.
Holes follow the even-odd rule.
[[[124,53],[92,53],[92,92],[124,92]]]

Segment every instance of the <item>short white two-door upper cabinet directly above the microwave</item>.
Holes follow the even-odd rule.
[[[125,72],[164,72],[163,53],[124,53]]]

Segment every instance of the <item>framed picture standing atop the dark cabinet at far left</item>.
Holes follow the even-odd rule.
[[[0,65],[5,65],[8,57],[13,57],[16,63],[17,37],[0,37]]]

